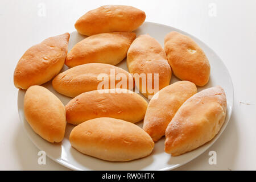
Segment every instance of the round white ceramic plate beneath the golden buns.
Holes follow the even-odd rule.
[[[32,142],[43,151],[46,151],[46,155],[49,156],[52,160],[62,164],[65,167],[75,169],[75,170],[168,170],[179,167],[185,163],[188,163],[192,159],[195,159],[197,156],[202,154],[205,150],[207,150],[216,140],[220,137],[221,133],[224,131],[226,125],[228,125],[230,115],[232,113],[233,106],[233,85],[232,80],[229,76],[229,72],[226,69],[224,63],[221,61],[220,57],[210,49],[206,44],[201,42],[199,39],[195,38],[192,35],[187,34],[186,32],[177,30],[176,28],[170,26],[164,26],[162,24],[145,22],[137,31],[135,31],[138,35],[141,34],[149,34],[160,44],[164,43],[164,36],[170,31],[179,31],[182,34],[190,36],[199,46],[204,50],[207,55],[211,73],[209,83],[201,88],[198,88],[199,91],[205,88],[209,88],[211,86],[220,85],[224,88],[226,92],[226,97],[228,101],[228,110],[226,115],[226,120],[224,125],[222,126],[220,132],[214,137],[210,142],[204,144],[203,146],[188,152],[187,154],[183,154],[180,156],[172,157],[169,154],[164,152],[164,137],[155,143],[155,148],[150,156],[146,158],[133,160],[131,162],[107,162],[101,159],[93,158],[91,156],[87,156],[81,154],[79,151],[75,150],[75,148],[71,147],[69,143],[68,137],[69,133],[73,129],[72,125],[67,124],[67,130],[65,132],[65,137],[63,142],[61,143],[49,143],[46,140],[39,137],[39,135],[35,134],[31,129],[30,125],[28,125],[26,119],[24,118],[23,113],[23,98],[26,91],[19,90],[18,94],[18,110],[20,120],[24,124],[24,129],[27,131],[28,137],[32,140]],[[84,39],[85,36],[79,35],[76,31],[71,33],[71,37],[69,39],[69,50],[80,40]],[[126,66],[126,60],[123,60],[121,63],[117,65],[128,71]],[[64,66],[63,70],[67,69]],[[172,75],[171,83],[177,81],[178,79]],[[51,82],[47,82],[43,86],[46,86],[51,92],[56,94],[57,97],[63,102],[64,105],[68,103],[71,98],[65,97],[53,90],[51,86]],[[142,126],[142,122],[138,123],[139,126]],[[30,150],[27,148],[27,150]]]

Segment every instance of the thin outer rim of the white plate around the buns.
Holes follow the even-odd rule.
[[[193,36],[192,34],[189,34],[188,32],[185,32],[183,30],[180,30],[179,28],[175,28],[175,27],[172,27],[172,26],[168,26],[167,24],[161,24],[161,23],[155,23],[155,22],[144,22],[143,24],[154,24],[155,26],[164,26],[166,28],[172,28],[174,29],[175,31],[178,31],[178,32],[181,32],[182,34],[185,34],[185,35],[189,35],[191,36],[192,39],[196,39],[196,40],[199,40],[199,42],[203,43],[204,46],[206,46],[208,49],[210,49],[210,51],[212,51],[214,53],[214,55],[217,56],[217,58],[222,62],[222,64],[224,65],[226,71],[227,71],[227,75],[229,77],[229,80],[230,80],[230,83],[231,83],[231,88],[232,88],[232,102],[230,103],[229,107],[230,107],[230,114],[228,115],[228,118],[225,119],[225,122],[226,122],[226,125],[223,125],[221,127],[221,130],[217,133],[217,135],[212,139],[210,140],[209,142],[211,142],[211,144],[209,145],[209,147],[205,148],[205,150],[202,150],[200,151],[197,155],[195,155],[193,158],[187,160],[186,162],[184,163],[180,163],[180,164],[176,164],[174,166],[171,166],[171,167],[165,167],[165,168],[161,168],[161,169],[155,169],[155,171],[170,171],[172,169],[175,169],[175,168],[178,168],[180,166],[183,166],[189,162],[191,162],[192,160],[196,159],[198,156],[200,156],[201,154],[203,154],[205,151],[207,151],[215,142],[216,140],[221,136],[221,134],[224,132],[224,130],[226,129],[226,126],[228,126],[228,123],[230,121],[230,118],[232,116],[232,113],[233,113],[233,105],[234,105],[234,86],[233,86],[233,81],[232,81],[232,77],[230,76],[230,73],[229,73],[229,69],[226,67],[224,61],[221,59],[220,56],[218,56],[218,54],[208,46],[208,44],[205,44],[202,40],[200,40],[199,38],[197,38],[196,36]],[[75,30],[76,31],[76,30]],[[74,32],[74,31],[73,31]],[[18,109],[18,114],[19,114],[19,119],[20,121],[23,123],[23,129],[26,131],[26,134],[27,134],[27,137],[31,140],[31,142],[39,149],[39,150],[42,150],[38,144],[36,144],[36,142],[34,141],[34,139],[32,139],[30,137],[30,135],[28,134],[25,126],[24,126],[24,122],[23,122],[23,119],[22,119],[22,116],[20,115],[20,110],[19,110],[19,97],[20,97],[20,94],[21,94],[21,91],[22,90],[18,90],[18,98],[17,98],[17,109]],[[23,112],[24,113],[24,112]],[[72,170],[76,170],[76,171],[84,171],[80,168],[77,168],[75,166],[73,166],[72,164],[69,164],[67,162],[65,162],[64,160],[61,160],[61,159],[56,159],[56,158],[53,158],[51,155],[49,154],[46,154],[48,156],[48,158],[50,158],[51,160],[59,163],[61,166],[64,166],[64,167],[67,167],[69,169],[72,169]],[[87,171],[93,171],[93,169],[88,169]]]

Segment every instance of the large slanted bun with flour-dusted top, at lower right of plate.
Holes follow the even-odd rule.
[[[226,95],[220,86],[189,98],[166,129],[164,150],[177,156],[209,142],[220,131],[226,117]]]

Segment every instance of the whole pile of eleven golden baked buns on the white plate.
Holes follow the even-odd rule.
[[[144,11],[135,7],[101,6],[77,20],[76,30],[88,37],[70,52],[65,33],[24,53],[14,71],[14,85],[27,90],[24,115],[36,134],[48,142],[61,142],[68,122],[77,125],[69,135],[72,147],[120,162],[150,155],[154,142],[164,136],[164,150],[172,156],[214,138],[225,121],[227,104],[220,86],[197,92],[210,77],[203,49],[175,31],[165,36],[164,48],[150,35],[137,37],[133,31],[145,18]],[[115,67],[125,58],[129,72]],[[64,64],[69,69],[60,73]],[[154,76],[142,84],[134,79],[137,73],[158,73],[159,91],[154,91],[154,84],[153,91],[148,89]],[[100,74],[108,77],[108,84],[99,89]],[[118,85],[119,74],[124,85]],[[181,81],[170,85],[172,74]],[[72,98],[67,105],[39,86],[51,80],[57,92]],[[134,88],[151,100],[147,102]],[[134,124],[139,121],[143,128]]]

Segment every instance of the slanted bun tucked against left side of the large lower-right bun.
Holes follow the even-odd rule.
[[[190,81],[177,81],[152,97],[144,117],[143,130],[154,142],[163,137],[176,111],[195,93],[197,93],[195,84]]]

